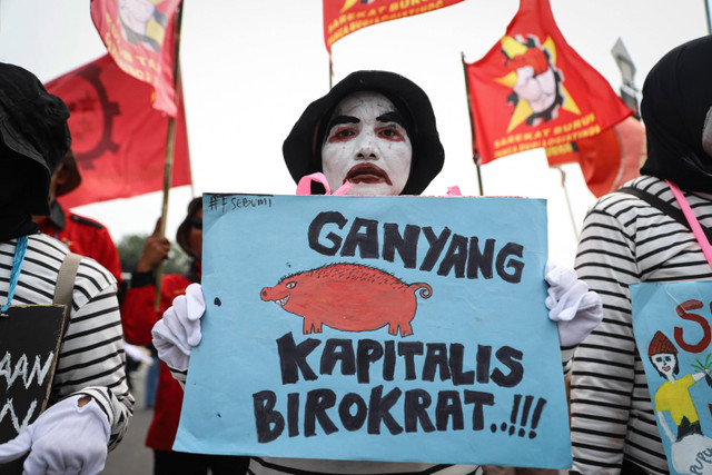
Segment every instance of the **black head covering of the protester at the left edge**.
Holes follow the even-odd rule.
[[[69,109],[31,72],[0,63],[0,240],[37,231],[49,214],[49,182],[71,145]]]

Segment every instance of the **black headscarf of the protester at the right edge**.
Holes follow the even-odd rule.
[[[641,174],[690,191],[712,192],[712,157],[702,148],[712,107],[712,36],[681,44],[657,61],[643,85],[647,160]]]

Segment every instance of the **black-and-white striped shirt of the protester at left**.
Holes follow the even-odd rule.
[[[16,239],[0,243],[0,303],[10,287]],[[12,305],[50,305],[67,247],[49,236],[29,236]],[[50,404],[72,394],[87,394],[106,413],[113,448],[134,412],[123,354],[123,334],[116,279],[93,259],[82,258],[73,289],[70,324],[62,339]]]

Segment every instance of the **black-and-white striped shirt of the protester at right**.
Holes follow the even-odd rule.
[[[646,176],[629,185],[680,208],[663,180]],[[712,228],[712,196],[684,196],[700,222]],[[576,270],[601,296],[604,317],[578,346],[572,365],[574,469],[617,474],[625,458],[651,474],[666,474],[633,337],[629,285],[712,280],[710,265],[683,225],[630,194],[614,192],[589,209]]]

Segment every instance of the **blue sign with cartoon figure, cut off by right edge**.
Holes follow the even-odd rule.
[[[635,344],[671,474],[712,474],[712,283],[631,286]]]

